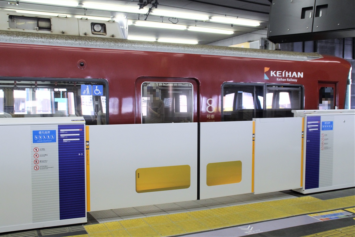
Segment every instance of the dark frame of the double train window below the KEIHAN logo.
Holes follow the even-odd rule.
[[[268,84],[268,83],[243,83],[243,82],[224,82],[221,85],[221,121],[242,121],[242,120],[226,120],[225,118],[225,111],[224,111],[224,92],[225,92],[225,86],[253,86],[254,87],[254,106],[255,103],[257,102],[257,100],[259,99],[260,102],[260,106],[262,107],[262,116],[256,116],[256,114],[258,113],[257,110],[261,109],[257,109],[254,107],[254,112],[253,112],[253,118],[269,118],[268,117],[268,110],[267,110],[267,103],[266,103],[266,96],[267,96],[267,88],[271,87],[271,86],[275,86],[275,87],[279,87],[279,88],[291,88],[291,90],[295,90],[294,88],[299,88],[300,89],[300,104],[301,104],[301,108],[300,109],[304,109],[304,103],[305,103],[305,98],[304,98],[304,86],[303,85],[298,85],[298,84]],[[262,91],[263,91],[263,100],[261,101],[259,96],[257,94],[255,94],[256,92],[256,87],[262,87]],[[285,89],[285,90],[286,90]],[[284,89],[282,89],[284,90]],[[236,98],[234,98],[234,103],[236,103],[235,101]],[[237,111],[237,110],[233,110],[234,109],[234,105],[232,108],[232,111]],[[288,110],[292,110],[288,109]],[[242,110],[242,109],[240,109]],[[284,110],[286,111],[286,109]],[[252,118],[252,119],[253,119]],[[250,119],[249,121],[251,121],[252,119]]]

